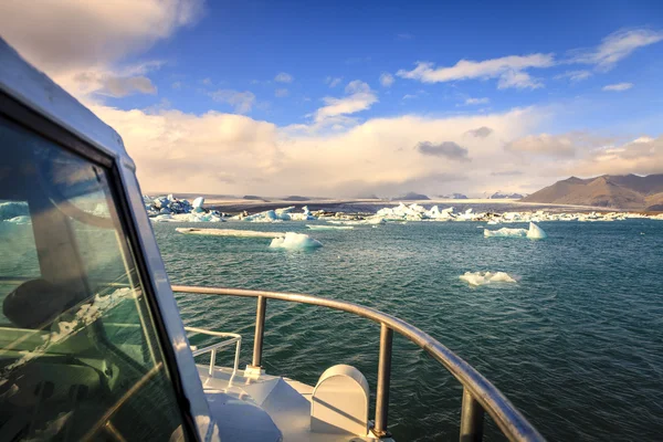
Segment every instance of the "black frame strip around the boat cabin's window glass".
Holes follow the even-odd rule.
[[[187,440],[199,440],[196,419],[191,415],[191,403],[185,392],[185,381],[179,371],[177,356],[164,322],[157,291],[152,285],[152,278],[150,277],[145,261],[146,255],[139,241],[138,228],[133,222],[131,204],[123,183],[122,171],[119,169],[120,165],[118,164],[119,159],[95,148],[77,135],[52,122],[46,116],[33,110],[0,88],[0,120],[1,119],[6,119],[10,124],[14,124],[29,133],[35,134],[106,170],[110,198],[114,203],[113,208],[117,213],[119,223],[118,228],[125,238],[125,241],[122,242],[122,250],[124,253],[128,253],[134,260],[136,276],[140,282],[147,307],[152,316],[155,335],[164,354],[164,364],[168,370],[169,378],[172,381],[177,400],[176,406],[181,414],[185,436]]]

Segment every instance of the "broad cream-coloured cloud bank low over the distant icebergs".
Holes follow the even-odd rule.
[[[366,87],[355,84],[349,95],[366,93]],[[263,196],[355,196],[364,190],[436,194],[456,191],[457,183],[451,180],[462,181],[463,192],[483,190],[495,164],[505,160],[501,139],[522,137],[540,119],[535,109],[482,116],[406,115],[316,134],[219,112],[197,115],[162,108],[147,113],[106,105],[93,105],[92,110],[122,135],[148,192]],[[482,126],[498,136],[481,143],[463,138],[467,130]],[[462,150],[446,152],[453,157],[455,151],[459,160],[443,155],[422,160],[418,150],[402,148],[422,139],[463,139],[461,149],[472,152],[472,168],[459,170],[459,165],[466,164]],[[490,182],[495,180],[492,177]]]

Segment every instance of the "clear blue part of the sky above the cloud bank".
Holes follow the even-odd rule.
[[[325,84],[329,76],[344,78],[341,85],[360,78],[381,90],[380,74],[411,70],[417,61],[451,66],[459,60],[482,61],[514,54],[564,56],[567,51],[596,46],[621,29],[663,28],[661,2],[641,2],[635,7],[633,3],[597,1],[580,6],[573,1],[533,8],[532,2],[503,6],[485,1],[457,4],[347,1],[313,8],[308,2],[211,2],[196,25],[178,31],[141,54],[167,63],[152,74],[159,96],[133,96],[114,104],[131,108],[166,98],[186,112],[202,113],[210,108],[232,112],[231,105],[214,103],[203,92],[230,88],[250,91],[264,104],[252,109],[255,118],[280,125],[305,123],[306,115],[319,107],[322,97],[340,90],[338,86],[330,90]],[[624,115],[640,112],[643,103],[651,102],[653,93],[661,96],[662,54],[663,44],[634,51],[609,72],[575,83],[555,77],[573,70],[591,71],[591,66],[532,70],[532,75],[545,84],[536,90],[497,90],[495,80],[422,84],[397,77],[380,94],[379,105],[362,117],[403,112],[475,112],[477,106],[471,109],[461,106],[469,97],[488,98],[490,104],[478,106],[485,112],[579,96],[609,105],[615,98],[607,97],[601,91],[603,86],[636,83],[636,88],[618,97],[622,112],[608,116],[610,120],[620,120]],[[275,82],[281,72],[291,74],[294,81]],[[206,78],[211,81],[210,85],[201,83]],[[181,88],[173,90],[177,82]],[[288,96],[275,97],[275,91],[283,88]],[[408,95],[415,98],[403,99]]]

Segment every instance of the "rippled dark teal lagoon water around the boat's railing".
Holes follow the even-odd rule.
[[[306,232],[324,244],[314,251],[183,235],[175,231],[181,225],[155,224],[173,283],[308,293],[399,316],[476,367],[549,440],[663,434],[663,222],[548,222],[543,241],[485,239],[474,222],[209,225]],[[504,271],[518,282],[471,287],[459,280],[467,271]],[[178,303],[187,325],[241,333],[241,364],[250,362],[253,299],[178,295]],[[349,364],[375,390],[379,326],[270,302],[265,327],[269,372],[315,385],[327,367]],[[230,354],[221,358],[231,364]],[[457,438],[459,383],[400,336],[391,386],[398,440]],[[492,424],[487,433],[499,439]]]

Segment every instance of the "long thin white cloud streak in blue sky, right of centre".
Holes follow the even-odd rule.
[[[433,63],[418,62],[412,71],[400,70],[396,75],[402,78],[418,80],[423,83],[443,83],[471,78],[499,78],[499,87],[540,87],[529,75],[523,72],[532,67],[554,65],[552,54],[509,55],[501,59],[475,62],[461,60],[451,67],[435,69]]]

